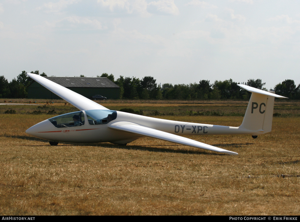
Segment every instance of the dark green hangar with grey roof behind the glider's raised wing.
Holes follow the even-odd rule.
[[[45,77],[87,98],[95,95],[107,99],[119,99],[120,87],[106,77]],[[61,99],[44,86],[34,81],[28,86],[29,99]]]

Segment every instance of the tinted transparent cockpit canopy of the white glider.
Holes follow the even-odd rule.
[[[85,124],[107,124],[117,118],[117,111],[113,110],[85,110],[63,114],[48,119],[55,127],[75,127]]]

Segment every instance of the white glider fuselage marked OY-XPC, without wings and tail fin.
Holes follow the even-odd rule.
[[[100,143],[112,142],[115,144],[126,144],[134,141],[137,138],[143,137],[129,132],[119,131],[116,133],[115,129],[111,129],[111,124],[118,122],[128,122],[140,126],[157,129],[163,132],[168,132],[175,135],[223,135],[223,134],[250,134],[251,132],[241,127],[232,126],[218,126],[200,123],[188,123],[174,120],[164,120],[153,117],[140,116],[137,114],[130,114],[121,111],[114,111],[117,113],[115,120],[109,123],[95,124],[97,120],[91,121],[82,111],[82,116],[85,120],[81,125],[59,126],[52,124],[50,118],[44,120],[29,129],[26,133],[41,139],[57,142],[74,142],[74,143]],[[73,114],[72,114],[73,115]],[[106,119],[106,118],[104,118]],[[72,120],[70,119],[72,123]],[[95,123],[94,123],[95,122]],[[65,123],[64,123],[65,124]],[[252,132],[253,133],[253,132]],[[258,134],[260,134],[258,132]]]

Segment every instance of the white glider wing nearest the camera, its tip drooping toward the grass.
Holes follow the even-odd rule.
[[[173,135],[171,133],[163,132],[157,129],[152,129],[145,126],[140,126],[135,123],[129,123],[129,122],[116,122],[109,126],[111,129],[117,129],[122,130],[125,132],[134,133],[137,135],[147,136],[147,137],[153,137],[160,140],[170,141],[173,143],[178,143],[182,145],[187,145],[191,147],[201,148],[201,149],[207,149],[215,152],[222,152],[227,153],[229,155],[238,155],[236,152],[231,152],[226,149],[221,149],[218,147],[214,147],[208,144],[204,144],[195,140],[191,140],[182,136]]]

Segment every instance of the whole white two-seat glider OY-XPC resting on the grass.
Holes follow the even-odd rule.
[[[111,142],[125,145],[146,136],[191,147],[237,155],[236,152],[182,136],[249,134],[256,138],[258,135],[271,131],[274,97],[286,98],[276,95],[272,91],[266,92],[238,84],[240,87],[252,92],[243,122],[238,127],[217,126],[163,120],[112,111],[40,75],[33,73],[27,73],[27,75],[80,110],[52,117],[26,130],[26,133],[29,135],[49,140],[51,145],[57,145],[58,142]]]

